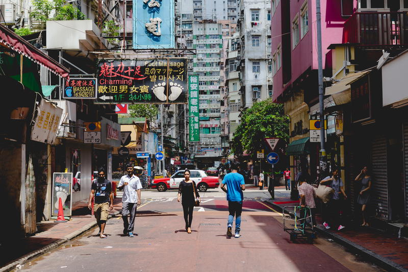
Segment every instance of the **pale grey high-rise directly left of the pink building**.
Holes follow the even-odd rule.
[[[271,2],[241,0],[238,28],[240,43],[241,107],[272,97]]]

